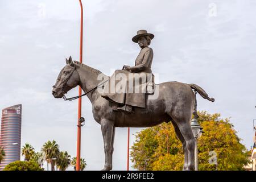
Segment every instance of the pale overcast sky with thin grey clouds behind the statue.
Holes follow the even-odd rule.
[[[199,96],[198,109],[231,117],[250,148],[256,118],[256,1],[82,2],[85,64],[106,75],[134,65],[140,48],[131,38],[140,29],[151,32],[152,71],[159,82],[200,85],[216,101]],[[51,89],[65,57],[79,59],[79,1],[0,1],[0,25],[0,109],[22,104],[22,145],[28,142],[39,151],[55,139],[60,150],[75,156],[77,101],[53,98]],[[86,170],[98,170],[104,167],[103,140],[86,97],[82,116],[81,157]],[[126,147],[127,128],[117,128],[113,170],[126,169]]]

